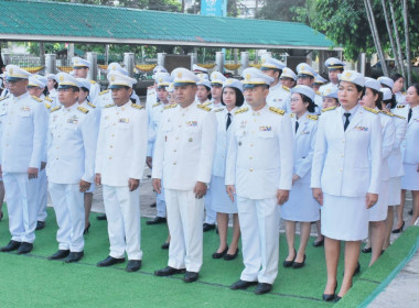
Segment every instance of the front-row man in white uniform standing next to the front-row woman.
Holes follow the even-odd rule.
[[[292,125],[284,110],[267,105],[272,78],[254,67],[243,76],[250,108],[235,112],[225,179],[230,199],[237,198],[245,264],[232,289],[257,284],[255,294],[265,294],[278,274],[280,206],[292,186]]]

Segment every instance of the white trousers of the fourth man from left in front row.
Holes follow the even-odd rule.
[[[171,235],[168,265],[197,273],[203,260],[204,199],[196,199],[193,189],[165,189],[165,204]]]

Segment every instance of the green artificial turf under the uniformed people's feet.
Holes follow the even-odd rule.
[[[6,212],[6,208],[3,210]],[[168,231],[164,224],[147,226],[142,219],[140,272],[125,272],[126,264],[99,268],[98,261],[109,253],[107,222],[90,218],[90,231],[85,237],[85,256],[77,264],[47,261],[57,250],[54,211],[49,209],[45,229],[36,231],[34,249],[29,255],[0,253],[0,307],[330,307],[322,301],[326,282],[324,250],[307,250],[303,268],[283,268],[287,243],[280,243],[280,266],[271,294],[256,296],[230,290],[243,270],[241,254],[234,261],[213,260],[218,238],[214,231],[204,233],[204,264],[197,283],[185,284],[183,275],[155,277],[155,270],[166,266],[168,251],[161,250]],[[353,289],[340,302],[341,307],[361,305],[402,262],[418,238],[419,228],[409,228],[380,260],[367,270],[369,254],[361,255],[361,275]],[[10,240],[8,217],[0,222],[0,245]],[[298,238],[297,243],[298,244]],[[343,256],[343,254],[342,254]],[[342,283],[340,262],[339,283]]]

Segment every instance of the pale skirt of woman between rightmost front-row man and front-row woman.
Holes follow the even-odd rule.
[[[290,221],[311,222],[320,219],[319,204],[313,198],[310,183],[296,183],[289,200],[281,207],[281,218]]]

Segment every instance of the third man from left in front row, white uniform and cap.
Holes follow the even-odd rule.
[[[103,185],[110,253],[97,266],[125,262],[127,272],[141,267],[140,179],[147,154],[147,113],[132,103],[137,81],[119,73],[109,74],[115,105],[104,108],[96,153],[96,185]]]

